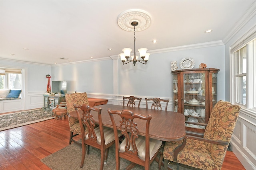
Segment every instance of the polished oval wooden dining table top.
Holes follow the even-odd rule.
[[[173,112],[173,111],[164,111],[164,110],[155,110],[155,109],[146,109],[139,107],[128,107],[120,106],[113,104],[104,104],[99,106],[94,106],[96,108],[102,108],[102,124],[106,127],[112,127],[112,122],[108,114],[108,109],[111,110],[120,110],[129,109],[133,113],[139,113],[141,115],[152,115],[149,127],[149,137],[153,139],[158,139],[161,141],[179,141],[184,138],[186,135],[185,131],[185,116],[183,114]],[[82,111],[80,110],[82,114]],[[70,117],[77,118],[76,111],[71,111],[68,113]],[[98,112],[91,111],[93,118],[96,123],[98,123]],[[119,126],[120,117],[114,115],[116,126]],[[141,122],[143,120],[134,119],[138,124],[138,129],[140,130],[139,135],[145,136],[146,132],[146,123]]]

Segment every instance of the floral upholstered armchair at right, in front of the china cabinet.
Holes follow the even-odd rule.
[[[240,106],[218,101],[212,109],[204,137],[186,135],[182,141],[166,142],[164,169],[168,160],[204,170],[220,170],[236,125]],[[162,160],[161,160],[162,162]]]

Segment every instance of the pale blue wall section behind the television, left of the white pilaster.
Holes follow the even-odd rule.
[[[68,92],[113,94],[113,61],[87,61],[52,67],[52,80],[67,80]]]

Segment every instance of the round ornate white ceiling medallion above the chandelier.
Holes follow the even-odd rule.
[[[134,26],[132,26],[134,21],[138,22],[136,31],[143,31],[150,26],[152,19],[148,12],[139,9],[126,10],[119,14],[117,18],[119,27],[125,31],[134,31]]]

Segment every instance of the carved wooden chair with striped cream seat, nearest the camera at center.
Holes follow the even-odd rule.
[[[144,166],[145,170],[149,170],[150,164],[162,148],[162,141],[149,138],[149,125],[152,116],[140,115],[127,109],[122,111],[112,111],[111,109],[108,109],[108,113],[112,121],[116,139],[116,170],[120,169],[120,158],[132,162],[126,169],[131,169],[136,166],[136,164],[139,164]],[[114,115],[119,116],[114,117]],[[145,124],[139,124],[138,126],[146,128],[145,136],[139,135],[139,128],[134,121],[138,119],[144,120],[143,123]],[[120,129],[124,135],[124,140],[121,144],[118,140],[118,129]],[[161,162],[159,162],[158,166],[161,168]]]

